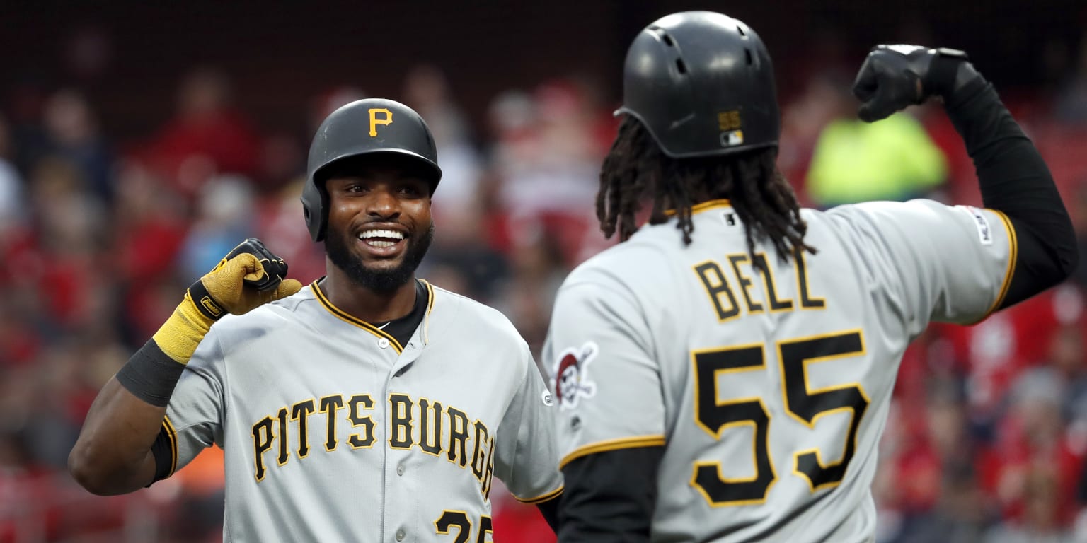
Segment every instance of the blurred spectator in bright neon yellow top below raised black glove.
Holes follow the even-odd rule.
[[[821,94],[835,104],[835,118],[820,132],[808,171],[808,195],[816,205],[909,200],[946,180],[944,154],[909,113],[864,123],[857,118],[847,79],[825,74],[813,85],[828,86]]]

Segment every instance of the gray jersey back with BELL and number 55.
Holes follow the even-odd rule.
[[[575,269],[544,361],[561,465],[664,445],[652,541],[874,541],[871,483],[891,389],[930,320],[1000,303],[1015,236],[933,201],[804,210],[817,254],[748,254],[725,201],[645,226]]]

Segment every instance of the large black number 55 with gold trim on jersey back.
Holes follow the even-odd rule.
[[[845,453],[836,463],[825,463],[817,449],[795,451],[792,472],[807,479],[812,492],[837,485],[846,476],[849,460],[857,451],[857,430],[869,406],[869,395],[860,383],[812,390],[808,386],[808,369],[812,363],[864,354],[861,330],[778,341],[775,344],[782,376],[782,399],[785,411],[807,428],[814,429],[820,417],[829,413],[848,412],[849,428]],[[777,473],[770,455],[770,411],[762,397],[717,401],[717,383],[722,374],[766,369],[765,345],[750,344],[709,349],[691,353],[695,376],[695,419],[699,427],[721,439],[729,427],[754,428],[753,477],[728,479],[721,475],[720,460],[695,463],[691,484],[714,506],[762,503]]]

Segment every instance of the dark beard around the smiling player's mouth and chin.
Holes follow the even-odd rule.
[[[355,285],[374,292],[388,293],[402,287],[415,273],[415,268],[423,261],[423,256],[426,255],[426,251],[434,240],[434,222],[430,222],[430,227],[423,236],[411,236],[404,240],[404,243],[408,243],[404,255],[400,264],[392,268],[367,267],[362,258],[352,255],[349,249],[357,239],[350,237],[349,240],[348,238],[349,235],[346,232],[336,232],[336,235],[328,232],[325,237],[325,254],[328,255],[328,260]]]

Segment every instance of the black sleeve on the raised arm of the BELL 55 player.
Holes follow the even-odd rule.
[[[980,76],[946,109],[974,161],[985,206],[1008,215],[1019,241],[1000,308],[1063,281],[1078,258],[1075,230],[1041,154]]]

